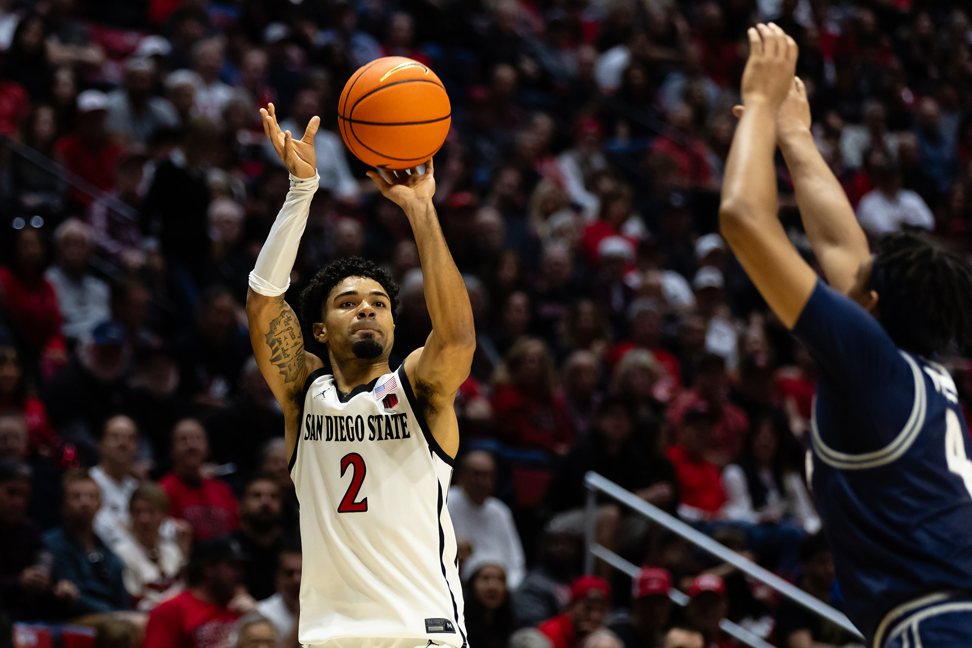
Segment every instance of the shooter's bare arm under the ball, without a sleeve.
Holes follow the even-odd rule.
[[[414,168],[410,173],[369,171],[368,177],[386,197],[399,204],[415,233],[432,333],[425,348],[405,360],[405,372],[416,397],[428,408],[425,414],[433,426],[435,440],[446,453],[455,456],[459,429],[454,423],[452,403],[460,385],[469,377],[476,337],[466,284],[445,244],[432,204],[433,162],[426,162],[422,174]],[[446,425],[436,426],[433,419],[439,415],[452,418],[442,422]]]

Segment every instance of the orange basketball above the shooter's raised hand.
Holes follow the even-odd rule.
[[[452,121],[435,73],[404,56],[377,58],[351,75],[337,104],[341,137],[365,164],[418,166],[439,150]]]

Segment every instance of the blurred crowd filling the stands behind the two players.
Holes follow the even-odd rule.
[[[854,643],[607,497],[596,539],[642,571],[584,575],[582,480],[841,606],[803,474],[815,363],[717,233],[745,30],[799,44],[869,237],[972,253],[963,5],[0,0],[0,648],[25,622],[101,648],[297,645],[283,415],[242,310],[288,190],[259,109],[295,134],[322,118],[288,299],[332,259],[380,262],[394,368],[431,330],[418,253],[336,133],[345,81],[383,55],[452,101],[434,200],[476,321],[448,494],[470,648],[728,648],[723,617],[781,648]],[[942,360],[968,407],[963,351]]]

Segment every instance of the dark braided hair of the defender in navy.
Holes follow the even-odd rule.
[[[972,344],[972,265],[916,230],[882,236],[870,287],[881,324],[899,347],[930,355],[953,339]]]

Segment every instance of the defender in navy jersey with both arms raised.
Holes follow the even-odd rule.
[[[819,365],[808,472],[848,616],[873,648],[972,646],[972,439],[934,359],[972,342],[972,268],[914,233],[869,252],[816,152],[796,44],[774,24],[748,38],[719,220]],[[777,218],[778,142],[829,286]]]

